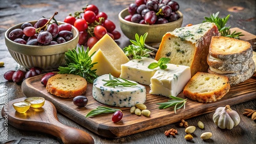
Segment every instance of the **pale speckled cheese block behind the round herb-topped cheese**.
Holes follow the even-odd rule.
[[[157,62],[152,58],[142,57],[141,59],[133,59],[121,65],[121,78],[132,80],[141,84],[150,85],[150,79],[159,68],[147,68],[153,62]]]

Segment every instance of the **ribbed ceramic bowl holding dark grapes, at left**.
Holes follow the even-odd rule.
[[[34,25],[35,21],[28,21]],[[61,25],[64,22],[58,21]],[[26,45],[16,43],[8,38],[9,33],[20,26],[23,23],[19,23],[8,29],[5,33],[5,43],[7,49],[13,59],[21,66],[30,69],[31,67],[40,67],[43,71],[53,71],[56,70],[60,65],[65,64],[65,52],[72,50],[77,46],[79,39],[78,30],[72,26],[73,39],[65,43],[55,44],[55,45]]]

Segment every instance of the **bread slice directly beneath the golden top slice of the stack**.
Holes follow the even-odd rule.
[[[239,63],[227,63],[226,61],[216,60],[210,55],[207,57],[207,63],[212,69],[222,71],[221,73],[242,73],[247,71],[249,67],[254,64],[252,58]]]

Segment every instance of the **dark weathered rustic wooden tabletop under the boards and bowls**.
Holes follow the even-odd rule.
[[[180,5],[180,11],[184,14],[182,26],[188,23],[201,23],[204,16],[209,16],[212,13],[220,11],[220,16],[224,17],[230,14],[228,26],[238,27],[256,35],[256,16],[254,0],[233,0],[233,1],[210,1],[210,0],[195,0],[177,1]],[[57,20],[62,21],[69,13],[81,10],[81,7],[87,4],[96,5],[100,11],[109,15],[109,19],[116,23],[117,30],[120,30],[118,13],[134,3],[134,0],[99,0],[99,1],[5,1],[0,0],[0,61],[5,62],[4,67],[0,67],[0,108],[2,109],[6,103],[5,95],[8,96],[8,101],[17,98],[25,97],[21,86],[13,82],[8,82],[3,78],[3,75],[8,70],[15,70],[17,63],[9,54],[5,45],[4,34],[5,31],[17,23],[36,20],[41,16],[51,16],[55,11],[59,14],[55,16]],[[129,44],[129,39],[123,34],[117,41],[120,47],[125,47]],[[5,91],[5,88],[7,90]],[[256,88],[256,86],[255,86]],[[256,99],[256,95],[255,95]],[[200,138],[201,132],[194,133],[195,138],[191,141],[184,139],[184,128],[180,128],[178,123],[170,124],[160,128],[140,132],[137,134],[121,137],[118,139],[107,139],[92,133],[84,127],[81,127],[72,119],[58,113],[59,121],[70,127],[78,128],[88,132],[95,143],[256,143],[256,123],[250,118],[242,115],[245,108],[256,109],[256,100],[248,101],[241,104],[231,106],[236,110],[241,117],[241,122],[232,130],[222,130],[212,121],[212,113],[203,114],[194,118],[186,119],[189,125],[197,126],[198,121],[202,121],[205,125],[205,132],[212,132],[211,139],[202,140]],[[60,139],[45,133],[23,131],[7,125],[8,119],[0,116],[0,143],[62,143]],[[156,122],[157,123],[157,122]],[[7,127],[7,128],[6,128]],[[166,137],[164,131],[175,128],[178,130],[176,137]],[[8,136],[8,137],[7,137]]]

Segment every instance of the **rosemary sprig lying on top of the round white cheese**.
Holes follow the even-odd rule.
[[[109,79],[110,80],[102,80],[106,83],[104,83],[104,86],[112,86],[112,87],[116,87],[116,86],[124,86],[124,87],[130,87],[133,85],[137,85],[137,83],[133,83],[131,81],[125,80],[123,78],[115,78],[113,77],[111,74],[109,74]],[[123,80],[123,81],[121,81]]]

